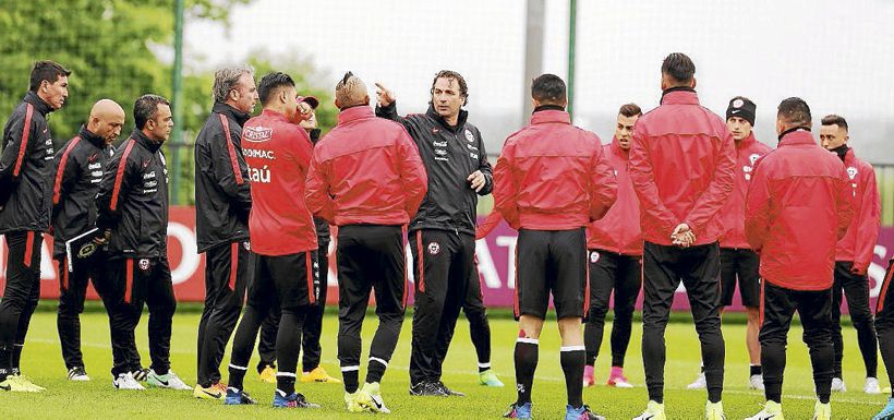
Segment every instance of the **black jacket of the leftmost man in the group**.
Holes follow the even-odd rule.
[[[52,135],[47,115],[52,107],[34,92],[15,107],[3,128],[0,157],[0,235],[50,228]]]

